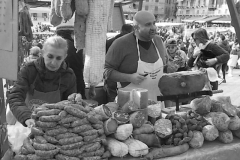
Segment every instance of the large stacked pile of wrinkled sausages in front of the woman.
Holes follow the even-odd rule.
[[[32,118],[35,126],[15,159],[107,158],[102,116],[93,108],[71,101],[43,104],[34,110]]]

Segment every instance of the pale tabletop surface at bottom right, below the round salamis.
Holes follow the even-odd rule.
[[[141,158],[110,158],[110,160],[139,160]],[[240,139],[234,138],[230,144],[224,144],[215,140],[205,141],[199,149],[190,148],[187,152],[178,156],[161,158],[158,160],[239,160],[240,159]],[[156,159],[157,160],[157,159]]]

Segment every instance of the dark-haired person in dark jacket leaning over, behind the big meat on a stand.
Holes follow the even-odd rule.
[[[194,52],[192,57],[188,60],[189,67],[216,69],[217,64],[226,63],[229,60],[229,54],[222,47],[209,40],[207,31],[199,28],[192,33],[198,51]],[[207,54],[207,55],[206,55]],[[212,57],[212,58],[208,58]],[[218,81],[210,82],[213,90],[218,89]]]

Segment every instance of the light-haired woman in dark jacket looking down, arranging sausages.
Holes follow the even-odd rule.
[[[17,120],[30,127],[34,125],[31,119],[34,107],[65,100],[76,92],[76,77],[64,62],[67,49],[66,40],[50,37],[43,45],[42,56],[20,70],[9,93],[8,123],[15,124]]]

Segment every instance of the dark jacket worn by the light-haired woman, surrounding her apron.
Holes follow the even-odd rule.
[[[39,76],[36,79],[37,74]],[[66,100],[72,93],[76,93],[76,77],[71,68],[64,62],[57,72],[45,68],[44,59],[27,63],[18,73],[17,81],[11,88],[8,98],[9,106],[16,119],[25,125],[25,121],[31,118],[31,110],[26,106],[25,99],[30,85],[35,82],[35,90],[40,92],[52,92],[59,88],[61,100]]]

